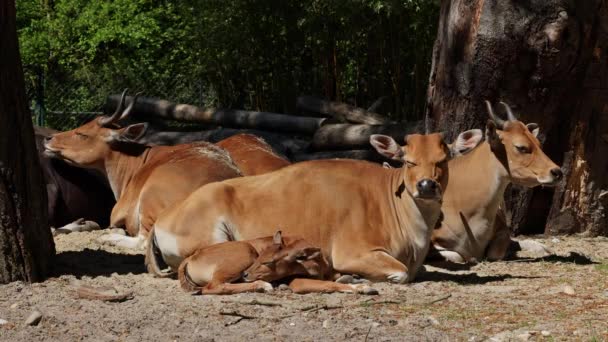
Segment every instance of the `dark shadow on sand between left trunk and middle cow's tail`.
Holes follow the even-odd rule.
[[[79,278],[145,272],[143,255],[116,254],[92,249],[57,254],[52,270],[54,276],[73,275]]]

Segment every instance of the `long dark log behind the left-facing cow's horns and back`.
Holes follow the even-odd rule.
[[[110,95],[106,100],[106,113],[118,106],[120,95]],[[127,96],[126,102],[133,100]],[[253,112],[234,109],[202,109],[188,104],[175,104],[166,100],[139,97],[133,108],[133,115],[155,116],[164,119],[201,122],[235,128],[253,128],[273,132],[289,132],[313,135],[324,118],[291,116],[285,114]]]

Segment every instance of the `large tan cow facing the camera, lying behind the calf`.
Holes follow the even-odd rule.
[[[467,131],[453,146],[475,146],[481,138]],[[400,148],[389,137],[376,141],[377,148],[400,151],[406,162],[400,169],[317,160],[208,184],[163,212],[148,248],[158,248],[176,270],[200,248],[269,236],[281,227],[320,247],[339,273],[412,280],[440,214],[452,153],[440,134],[414,134],[405,142]]]

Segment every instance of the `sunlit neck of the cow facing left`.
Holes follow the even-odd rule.
[[[137,155],[112,151],[106,157],[103,171],[108,177],[108,182],[116,200],[120,198],[135,173],[146,163],[150,149],[150,147],[146,147],[141,154]]]

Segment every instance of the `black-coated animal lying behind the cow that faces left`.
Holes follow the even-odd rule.
[[[46,184],[49,226],[60,233],[107,226],[116,203],[107,180],[94,170],[46,158],[44,140],[57,131],[34,127],[34,133]]]

